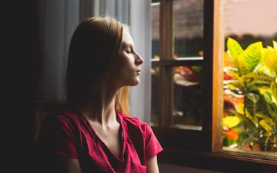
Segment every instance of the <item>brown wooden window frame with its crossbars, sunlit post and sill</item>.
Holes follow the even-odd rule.
[[[163,146],[159,162],[184,165],[222,172],[276,172],[275,156],[260,156],[222,150],[223,112],[223,57],[224,28],[223,4],[221,0],[204,0],[204,59],[172,60],[172,3],[160,0],[159,57],[152,66],[159,70],[158,126],[152,126]],[[170,115],[171,91],[170,66],[203,66],[205,74],[202,131],[177,129],[167,126]],[[203,99],[204,100],[204,99]],[[186,136],[186,138],[184,137]],[[182,138],[183,137],[183,138]]]

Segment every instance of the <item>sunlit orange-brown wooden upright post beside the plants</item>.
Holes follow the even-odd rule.
[[[223,3],[214,0],[213,15],[213,124],[212,151],[222,150],[224,25]]]

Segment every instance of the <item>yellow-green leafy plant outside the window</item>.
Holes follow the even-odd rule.
[[[224,67],[231,80],[224,80],[224,89],[244,98],[229,116],[238,116],[240,138],[238,146],[258,145],[260,151],[276,149],[277,126],[277,43],[262,47],[262,42],[250,44],[245,50],[234,39],[227,41],[233,67]]]

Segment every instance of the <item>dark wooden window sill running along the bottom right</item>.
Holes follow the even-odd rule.
[[[196,167],[220,172],[276,172],[277,158],[249,157],[234,152],[190,152],[166,149],[159,154],[159,163]]]

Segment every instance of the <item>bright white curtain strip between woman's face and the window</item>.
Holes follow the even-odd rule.
[[[131,89],[130,107],[132,116],[150,122],[151,109],[151,1],[131,0],[130,26],[136,50],[143,57],[141,84]]]

